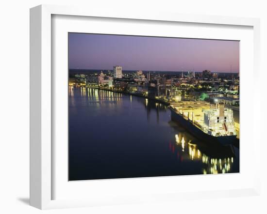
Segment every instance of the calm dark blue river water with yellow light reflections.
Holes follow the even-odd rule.
[[[148,99],[69,87],[69,180],[239,172],[239,150],[206,144]]]

